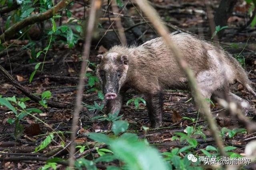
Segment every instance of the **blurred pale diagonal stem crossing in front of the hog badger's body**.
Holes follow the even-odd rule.
[[[183,70],[185,73],[188,82],[190,84],[190,88],[192,93],[194,94],[194,100],[195,102],[199,105],[198,107],[200,108],[201,112],[203,115],[206,117],[210,129],[212,131],[212,135],[216,141],[216,144],[218,145],[218,149],[220,151],[220,154],[226,155],[226,152],[224,151],[224,146],[222,143],[222,140],[219,137],[219,131],[218,127],[216,125],[216,122],[214,121],[212,114],[210,112],[210,108],[208,107],[207,103],[205,102],[204,98],[202,97],[202,94],[198,90],[198,85],[196,82],[196,79],[194,78],[194,73],[182,59],[182,54],[179,51],[179,49],[172,43],[172,39],[169,36],[168,29],[166,26],[161,22],[160,17],[158,16],[156,10],[146,0],[135,0],[140,9],[148,16],[148,19],[152,22],[158,33],[162,36],[164,39],[166,45],[170,48],[172,53],[174,54],[174,58],[176,59],[177,63],[179,64],[180,68]],[[198,108],[198,109],[199,109]]]

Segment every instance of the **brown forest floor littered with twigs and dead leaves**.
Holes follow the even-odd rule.
[[[185,1],[190,2],[190,1]],[[164,6],[164,2],[157,2],[158,4]],[[173,2],[174,4],[176,1]],[[193,12],[190,14],[190,10]],[[172,20],[170,23],[177,25],[186,30],[194,31],[198,33],[198,30],[193,29],[200,28],[203,32],[207,32],[208,22],[205,20],[205,15],[201,13],[196,13],[195,11],[204,11],[205,9],[201,6],[191,5],[186,8],[178,8],[176,12],[173,10],[161,9],[159,10],[160,14],[164,17],[166,12],[172,15]],[[239,11],[236,13],[239,13]],[[234,15],[233,18],[238,17]],[[201,19],[198,19],[201,18]],[[231,19],[230,19],[231,20]],[[244,20],[244,18],[241,18]],[[240,19],[239,19],[240,21]],[[256,43],[256,38],[251,37],[246,44],[248,37],[251,34],[255,33],[255,29],[248,29],[249,31],[244,31],[243,33],[236,33],[239,23],[235,19],[229,22],[230,27],[226,30],[226,36],[222,37],[221,42],[225,44],[243,44],[246,45],[244,51],[242,48],[234,48],[229,51],[233,56],[237,56],[241,51],[245,58],[244,68],[249,73],[249,78],[252,80],[252,87],[256,89],[256,54],[253,48],[253,45]],[[148,39],[150,37],[155,37],[154,33],[148,32],[145,35]],[[21,41],[21,43],[23,43]],[[227,45],[221,44],[223,47]],[[12,76],[18,80],[18,82],[26,87],[32,94],[41,94],[42,92],[49,90],[52,94],[50,100],[58,102],[60,104],[71,104],[74,106],[76,100],[76,90],[78,75],[80,71],[80,58],[78,56],[82,53],[81,43],[76,45],[73,49],[68,49],[65,45],[55,44],[48,52],[48,57],[46,58],[46,63],[44,64],[44,69],[42,72],[37,72],[34,76],[31,83],[29,83],[29,78],[31,73],[34,71],[35,64],[28,64],[28,59],[30,58],[30,52],[24,48],[11,47],[9,49],[9,61],[4,57],[4,53],[0,53],[0,64],[8,68],[9,73],[11,64],[12,67]],[[102,46],[103,47],[103,46]],[[230,46],[228,46],[230,47]],[[95,56],[99,53],[99,49],[95,50],[95,45],[92,46],[90,61],[97,64]],[[49,59],[49,60],[47,60]],[[88,72],[95,76],[95,67],[93,64],[90,64]],[[0,94],[3,97],[12,97],[24,98],[24,94],[15,88],[8,80],[5,78],[0,79]],[[95,83],[94,86],[90,86],[86,80],[86,86],[83,94],[83,102],[88,105],[94,105],[94,102],[100,104],[102,100],[98,97],[97,90],[90,90],[92,88],[100,89],[100,84]],[[240,85],[236,84],[232,88],[233,92],[246,99],[250,102],[252,107],[255,107],[256,100]],[[202,131],[206,135],[206,140],[198,136],[196,139],[200,143],[200,147],[205,148],[208,145],[215,145],[214,140],[210,134],[210,130],[206,125],[206,121],[202,115],[198,115],[196,108],[194,107],[193,100],[190,100],[191,96],[188,91],[181,90],[166,90],[164,91],[164,104],[163,104],[163,125],[159,129],[149,129],[145,134],[143,126],[150,127],[150,122],[148,118],[148,113],[146,106],[140,102],[139,107],[135,108],[134,102],[129,105],[126,105],[126,102],[129,99],[142,97],[141,94],[134,90],[129,90],[124,98],[124,105],[121,111],[122,120],[127,120],[129,122],[128,131],[132,133],[137,133],[140,137],[146,137],[148,142],[155,147],[157,147],[160,152],[169,151],[172,147],[180,147],[181,144],[173,141],[171,138],[175,132],[184,131],[187,126],[202,125]],[[228,129],[234,128],[243,128],[242,125],[238,125],[236,120],[226,114],[226,111],[214,103],[215,106],[212,106],[212,115],[216,118],[218,127],[221,130],[223,127]],[[36,107],[42,110],[42,113],[35,113],[34,116],[38,119],[47,123],[55,131],[62,131],[64,135],[64,142],[67,144],[70,142],[70,128],[72,124],[72,113],[74,111],[73,107],[70,108],[44,108],[40,104],[35,103],[34,101],[27,101],[26,108]],[[104,115],[105,108],[103,111],[98,112],[97,115]],[[17,156],[28,155],[42,155],[50,150],[54,150],[59,147],[56,143],[59,143],[59,139],[56,138],[56,143],[51,143],[38,154],[32,153],[45,138],[49,135],[52,130],[49,127],[46,127],[44,123],[35,119],[31,116],[24,117],[20,124],[24,125],[24,133],[19,134],[19,138],[15,140],[14,130],[15,125],[7,122],[9,118],[14,118],[15,115],[11,111],[7,111],[6,107],[0,107],[0,151],[9,150],[9,153],[16,153]],[[97,119],[90,119],[96,116],[94,111],[89,111],[87,107],[83,107],[80,112],[80,119],[82,122],[83,132],[102,132],[104,125],[101,121]],[[193,119],[182,119],[182,117],[188,117]],[[248,117],[255,119],[255,115],[251,112],[248,113]],[[110,133],[110,132],[106,132]],[[228,135],[225,135],[224,143],[226,145],[232,145],[237,147],[233,152],[244,153],[245,145],[254,139],[256,133],[241,133],[236,134],[234,137],[229,138]],[[86,137],[79,137],[76,140],[76,143],[86,143],[88,139]],[[11,155],[11,154],[10,154]],[[68,158],[67,152],[65,150],[60,153],[58,156],[62,158]],[[2,168],[9,169],[36,169],[40,167],[40,163],[33,162],[33,160],[24,160],[21,162],[14,163],[7,161]],[[255,166],[250,166],[250,168],[255,168]]]

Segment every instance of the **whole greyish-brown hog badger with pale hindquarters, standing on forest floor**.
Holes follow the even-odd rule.
[[[237,81],[256,97],[246,72],[229,53],[188,33],[170,36],[193,70],[204,98],[218,95],[225,86],[229,90]],[[188,89],[185,75],[161,37],[138,47],[114,46],[97,57],[101,61],[96,74],[108,100],[108,113],[120,111],[124,92],[134,88],[146,97],[151,126],[160,127],[162,91]],[[232,92],[228,94],[232,100],[244,101]]]

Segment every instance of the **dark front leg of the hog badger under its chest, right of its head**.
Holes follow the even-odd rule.
[[[162,94],[146,94],[146,104],[151,127],[162,126]]]

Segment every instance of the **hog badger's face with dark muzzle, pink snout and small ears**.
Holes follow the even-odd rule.
[[[107,100],[114,99],[126,81],[128,56],[115,52],[98,55],[101,62],[97,65],[97,76]]]

